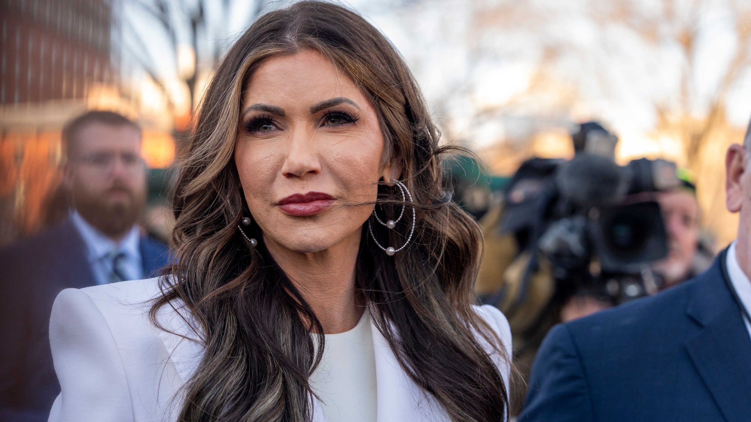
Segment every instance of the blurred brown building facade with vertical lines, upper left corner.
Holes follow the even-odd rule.
[[[0,14],[0,104],[17,119],[31,117],[22,105],[80,100],[92,84],[114,83],[110,2],[5,0]]]

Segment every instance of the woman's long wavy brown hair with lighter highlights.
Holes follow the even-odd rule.
[[[481,230],[451,202],[442,182],[439,135],[399,53],[353,11],[299,2],[258,18],[229,50],[204,95],[195,134],[173,191],[178,257],[152,305],[184,303],[206,351],[183,387],[180,421],[299,421],[312,417],[308,378],[321,360],[321,324],[264,248],[233,158],[243,87],[271,56],[314,49],[351,77],[372,102],[385,138],[382,163],[400,157],[417,217],[412,243],[388,256],[363,226],[356,286],[403,370],[454,421],[504,420],[508,393],[487,345],[508,362],[498,337],[472,309]],[[400,209],[398,189],[379,185],[383,215]],[[411,213],[407,213],[409,216]],[[388,230],[370,218],[383,245],[401,245],[410,219]],[[160,326],[161,327],[161,326]],[[317,334],[316,334],[317,333]],[[479,333],[479,336],[476,334]]]

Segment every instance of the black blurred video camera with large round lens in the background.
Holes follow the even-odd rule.
[[[617,165],[617,137],[595,122],[572,137],[571,161],[533,158],[520,167],[505,193],[501,231],[550,262],[559,296],[618,304],[656,293],[662,282],[650,263],[667,255],[668,238],[659,204],[645,193],[678,187],[675,164]]]

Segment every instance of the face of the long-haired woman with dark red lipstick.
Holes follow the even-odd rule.
[[[246,86],[234,151],[243,193],[264,241],[319,252],[360,228],[383,178],[375,110],[349,77],[315,50],[277,56]]]

